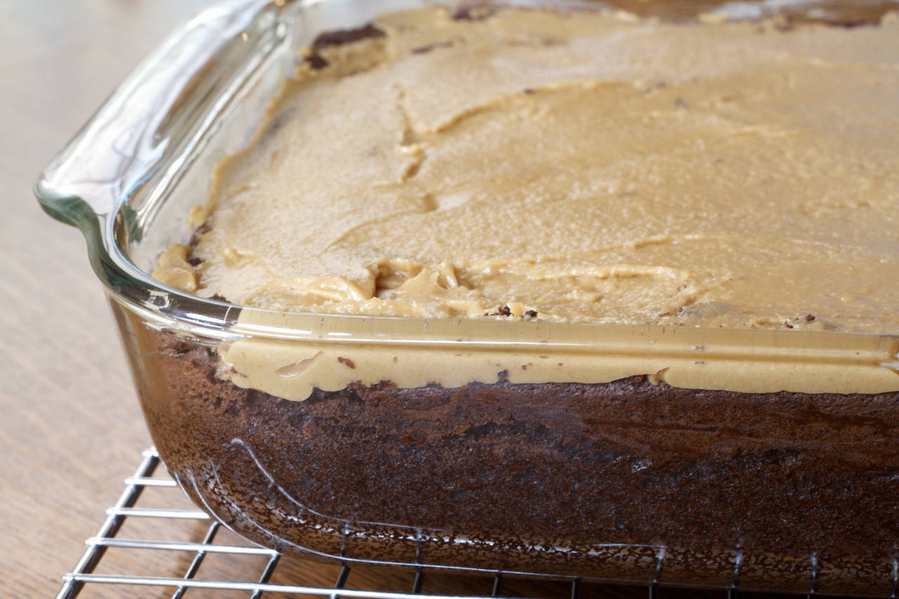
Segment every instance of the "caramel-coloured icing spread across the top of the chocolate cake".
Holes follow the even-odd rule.
[[[300,68],[194,215],[200,264],[174,248],[159,279],[285,311],[899,332],[899,28],[375,24]]]

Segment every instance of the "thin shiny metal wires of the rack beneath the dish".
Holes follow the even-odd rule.
[[[425,571],[421,568],[414,573],[414,579],[411,581],[411,588],[405,590],[365,590],[360,588],[348,587],[347,580],[350,577],[351,568],[348,564],[343,564],[338,570],[334,579],[333,586],[303,585],[293,584],[295,581],[290,580],[291,584],[276,584],[271,582],[271,577],[278,567],[282,556],[276,550],[270,550],[259,546],[248,546],[236,544],[229,541],[217,541],[218,532],[222,530],[221,524],[210,520],[209,516],[204,512],[196,509],[178,509],[168,506],[163,507],[138,507],[138,498],[141,494],[151,487],[162,489],[171,489],[172,495],[181,497],[180,491],[177,489],[172,478],[162,473],[154,476],[160,460],[156,450],[149,449],[143,452],[143,459],[135,471],[134,475],[126,478],[125,489],[119,500],[106,510],[106,519],[102,523],[100,530],[93,537],[87,539],[85,553],[78,560],[76,567],[69,574],[63,577],[63,586],[57,595],[58,599],[73,599],[79,595],[85,586],[109,586],[109,585],[127,585],[132,588],[135,586],[155,587],[157,591],[170,589],[173,599],[181,599],[182,595],[191,589],[206,589],[214,591],[237,591],[243,592],[252,599],[258,599],[263,594],[280,594],[280,595],[307,595],[307,596],[328,596],[336,597],[361,597],[364,599],[488,599],[494,597],[502,597],[504,591],[504,576],[509,573],[494,572],[493,580],[485,579],[483,571],[472,570],[472,577],[479,577],[481,582],[492,583],[492,592],[489,595],[465,594],[458,595],[434,595],[423,594],[423,583]],[[127,519],[165,519],[167,521],[194,521],[196,525],[205,526],[205,533],[202,541],[146,541],[137,539],[123,539],[117,537],[120,529]],[[208,523],[208,524],[207,524]],[[173,576],[144,576],[138,574],[97,574],[95,573],[104,554],[108,550],[167,550],[179,552],[182,555],[190,557],[190,563],[183,575],[180,577]],[[205,579],[198,577],[200,566],[204,560],[211,555],[225,554],[228,556],[247,558],[255,556],[257,559],[264,559],[265,565],[262,568],[261,575],[255,582],[245,582],[238,580],[218,580]],[[192,557],[191,557],[192,556]],[[311,568],[311,567],[310,567]],[[353,565],[353,569],[357,568]],[[311,570],[310,570],[311,571]],[[544,579],[558,580],[555,577],[547,577],[545,575],[534,575],[534,577],[542,577]],[[576,578],[567,578],[564,580],[566,588],[565,595],[572,599],[584,599],[582,593],[582,582]],[[562,584],[562,583],[560,583]],[[620,587],[619,587],[620,588]],[[649,599],[655,599],[657,593],[657,585],[652,583],[643,585],[645,593]],[[634,596],[634,587],[630,587],[630,592],[626,595]],[[741,595],[747,592],[741,589]],[[521,595],[517,593],[514,595]],[[602,595],[609,595],[603,593]],[[705,592],[705,597],[726,597],[734,599],[736,589],[721,590],[717,592]],[[812,597],[817,595],[814,591],[808,595]],[[230,596],[230,595],[229,595]],[[526,595],[533,596],[533,595]],[[697,596],[697,595],[694,595]],[[769,597],[774,595],[768,595]],[[786,595],[785,595],[786,596]],[[895,596],[895,595],[894,595]]]

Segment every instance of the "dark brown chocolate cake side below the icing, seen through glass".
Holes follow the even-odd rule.
[[[722,586],[739,552],[741,586],[797,590],[850,559],[858,571],[837,591],[890,591],[897,393],[741,394],[637,377],[386,381],[293,402],[219,380],[205,346],[155,343],[138,376],[163,460],[198,505],[264,545],[644,580],[666,546],[664,581]]]

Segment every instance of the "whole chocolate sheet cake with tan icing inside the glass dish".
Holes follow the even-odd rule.
[[[899,333],[896,13],[685,6],[423,9],[321,36],[154,276],[272,310],[241,314],[259,331],[314,313]],[[881,362],[203,341],[113,308],[167,466],[254,541],[894,590]]]

